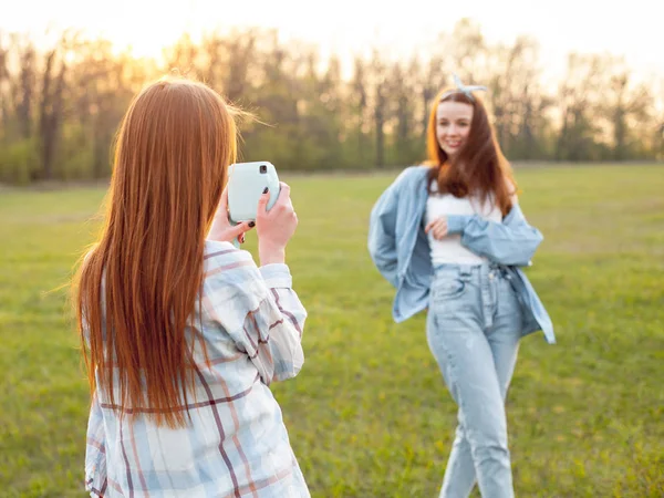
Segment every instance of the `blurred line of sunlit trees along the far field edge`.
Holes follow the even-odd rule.
[[[537,40],[488,43],[459,21],[426,55],[339,56],[282,42],[276,30],[187,33],[162,60],[118,52],[108,40],[64,31],[50,48],[0,32],[0,181],[98,179],[132,96],[177,72],[206,82],[258,120],[241,124],[242,159],[280,169],[402,167],[424,159],[430,103],[457,73],[488,86],[485,102],[510,160],[664,158],[663,82],[637,82],[610,54],[568,58],[546,86]]]

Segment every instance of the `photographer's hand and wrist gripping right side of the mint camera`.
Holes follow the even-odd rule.
[[[286,261],[286,246],[298,227],[298,215],[290,198],[290,187],[280,183],[277,203],[268,210],[270,195],[266,191],[258,200],[256,235],[261,266]]]

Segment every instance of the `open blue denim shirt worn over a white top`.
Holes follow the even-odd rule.
[[[430,248],[422,222],[426,210],[427,166],[406,168],[381,195],[371,211],[369,252],[381,272],[396,288],[392,309],[400,323],[428,305],[434,274]],[[522,335],[541,330],[549,343],[556,342],[553,325],[530,281],[519,267],[530,259],[543,237],[531,227],[518,204],[502,222],[477,215],[450,215],[448,234],[460,234],[461,245],[506,270],[523,311]]]

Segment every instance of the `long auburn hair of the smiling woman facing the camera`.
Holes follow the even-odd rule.
[[[438,144],[437,111],[443,102],[460,102],[473,106],[468,138],[454,159]],[[455,197],[478,196],[483,203],[495,203],[504,216],[509,212],[510,196],[517,185],[511,167],[496,141],[487,110],[477,95],[469,98],[463,92],[446,89],[436,96],[429,114],[427,153],[427,164],[432,167],[428,183],[437,180],[438,191]]]

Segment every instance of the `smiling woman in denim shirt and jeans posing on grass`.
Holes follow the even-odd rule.
[[[487,112],[455,76],[430,113],[425,166],[404,170],[371,214],[369,250],[396,288],[401,322],[428,308],[427,340],[457,403],[440,497],[512,497],[505,397],[521,336],[553,328],[520,267],[542,235],[528,225]]]

